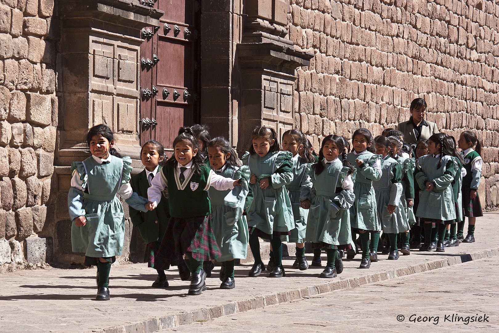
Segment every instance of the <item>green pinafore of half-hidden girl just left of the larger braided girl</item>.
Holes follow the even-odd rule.
[[[294,229],[289,235],[289,242],[303,243],[307,229],[308,209],[301,208],[300,204],[310,197],[310,189],[312,188],[312,182],[308,176],[310,163],[305,163],[299,155],[296,155],[293,158],[292,169],[293,180],[289,185],[286,185],[294,217]]]

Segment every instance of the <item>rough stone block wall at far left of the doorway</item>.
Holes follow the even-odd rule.
[[[0,264],[26,259],[24,240],[47,215],[58,108],[53,5],[0,1]]]

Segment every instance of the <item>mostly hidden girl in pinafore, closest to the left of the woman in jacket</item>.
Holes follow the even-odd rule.
[[[412,226],[416,224],[416,216],[414,215],[414,170],[416,167],[416,161],[414,158],[406,157],[409,156],[408,153],[402,152],[402,141],[397,136],[389,136],[388,139],[391,141],[391,156],[401,164],[402,168],[402,196],[400,198],[402,206],[407,217],[409,225]],[[402,247],[400,252],[404,255],[411,254],[411,246],[409,244],[410,233],[409,229],[406,232],[401,232],[398,235],[401,238]]]

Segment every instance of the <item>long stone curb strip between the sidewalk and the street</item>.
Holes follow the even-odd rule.
[[[161,318],[148,319],[141,322],[115,326],[104,330],[92,330],[92,333],[152,333],[159,330],[175,328],[195,322],[205,322],[222,316],[233,315],[254,309],[265,308],[270,305],[287,303],[309,298],[310,296],[329,293],[335,290],[357,288],[369,283],[391,280],[406,275],[432,271],[437,268],[449,267],[463,264],[472,260],[491,258],[499,255],[499,248],[483,250],[476,253],[456,255],[447,259],[435,260],[414,266],[393,269],[381,273],[368,274],[359,278],[336,280],[321,283],[301,289],[289,290],[264,296],[253,297],[248,300],[218,305],[207,309],[199,309],[192,312],[182,312]]]

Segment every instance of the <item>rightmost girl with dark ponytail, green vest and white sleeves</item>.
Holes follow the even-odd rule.
[[[482,176],[482,156],[481,144],[475,132],[464,131],[459,137],[459,148],[464,156],[464,167],[466,176],[463,178],[463,219],[458,225],[458,239],[463,243],[475,242],[475,223],[477,217],[484,216],[480,197],[478,196],[478,187]],[[465,227],[465,216],[468,217],[468,235],[463,238],[463,229]]]

